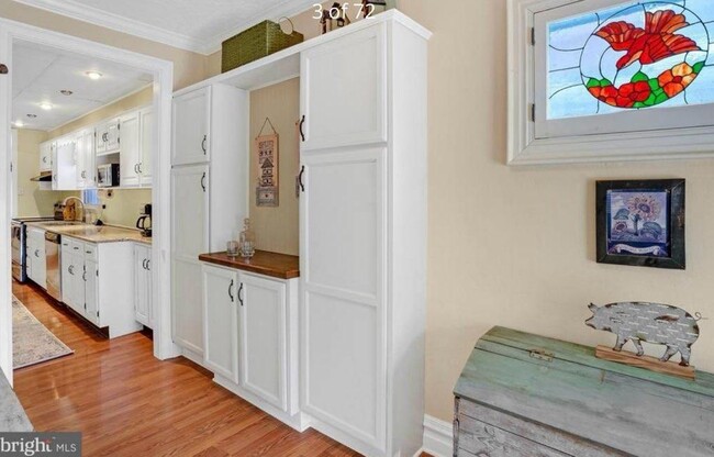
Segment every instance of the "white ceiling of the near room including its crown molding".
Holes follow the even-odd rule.
[[[97,25],[209,54],[255,23],[316,0],[15,0]]]

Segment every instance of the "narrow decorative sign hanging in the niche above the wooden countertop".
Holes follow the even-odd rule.
[[[270,124],[272,135],[264,135],[266,124]],[[278,207],[279,188],[279,137],[270,119],[266,118],[258,137],[255,138],[258,152],[258,187],[256,188],[257,207]]]

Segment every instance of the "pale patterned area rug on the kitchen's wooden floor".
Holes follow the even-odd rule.
[[[12,365],[14,369],[72,354],[24,304],[12,298]]]

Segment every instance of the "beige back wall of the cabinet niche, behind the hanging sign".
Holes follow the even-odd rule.
[[[279,202],[278,208],[257,208],[258,153],[250,144],[250,222],[263,250],[299,254],[299,200],[295,197],[295,176],[300,167],[300,140],[295,121],[300,114],[300,79],[291,79],[250,93],[250,137],[255,138],[266,118],[279,135]],[[271,134],[266,125],[264,135]]]

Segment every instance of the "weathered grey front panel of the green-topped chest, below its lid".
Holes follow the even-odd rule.
[[[504,430],[459,414],[459,456],[479,457],[567,457],[550,447],[543,446]]]

